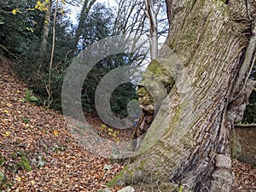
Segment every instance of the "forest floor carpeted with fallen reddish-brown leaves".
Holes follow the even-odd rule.
[[[0,171],[3,191],[97,191],[125,165],[91,154],[67,130],[61,112],[22,102],[26,84],[0,56]],[[88,116],[93,127],[100,119]],[[108,133],[108,132],[107,132]],[[127,134],[119,134],[120,139]],[[104,166],[111,165],[106,171]],[[256,167],[233,160],[234,192],[256,191]],[[117,191],[118,187],[111,189]],[[1,185],[0,185],[1,191]]]

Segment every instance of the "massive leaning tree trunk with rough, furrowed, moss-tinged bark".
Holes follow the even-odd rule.
[[[244,84],[246,73],[242,80],[238,76],[252,36],[247,8],[255,8],[240,0],[166,3],[171,25],[168,53],[162,49],[161,54],[168,59],[159,62],[166,71],[173,66],[181,70],[169,73],[174,84],[160,79],[167,82],[167,96],[159,109],[154,107],[157,114],[137,157],[108,185],[130,184],[140,191],[176,191],[181,186],[182,191],[230,191],[230,129],[241,120],[253,89],[253,81]],[[139,123],[147,125],[147,120]]]

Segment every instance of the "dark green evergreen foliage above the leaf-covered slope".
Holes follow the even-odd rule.
[[[49,23],[49,38],[46,53],[40,55],[42,33],[44,30],[44,10],[46,1],[0,1],[0,52],[15,61],[14,70],[20,79],[26,81],[29,90],[22,102],[36,102],[44,105],[48,99],[45,84],[49,81],[49,55],[52,46],[52,23]],[[61,3],[63,5],[63,3]],[[60,5],[60,6],[62,6]],[[54,7],[52,9],[55,9]],[[60,7],[60,9],[63,9]],[[21,13],[21,14],[20,14]],[[15,15],[14,15],[15,14]],[[51,15],[52,16],[52,15]],[[107,8],[101,3],[95,3],[90,9],[89,15],[84,20],[82,35],[79,39],[78,50],[73,50],[73,38],[76,27],[72,20],[60,12],[56,15],[55,24],[55,53],[51,73],[51,90],[53,102],[51,108],[61,109],[61,86],[67,67],[72,63],[73,57],[81,49],[86,49],[90,44],[102,38],[113,35],[114,16],[113,9]],[[42,58],[44,65],[40,66]],[[95,110],[95,91],[97,84],[108,72],[116,67],[133,65],[137,61],[130,55],[119,54],[110,56],[93,67],[84,80],[82,90],[82,106],[84,111]],[[40,67],[40,73],[38,68]],[[136,86],[122,84],[114,90],[111,97],[113,113],[119,117],[128,115],[127,104],[131,100],[137,100]]]

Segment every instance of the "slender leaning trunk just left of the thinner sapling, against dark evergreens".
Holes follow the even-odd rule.
[[[49,22],[50,22],[50,11],[51,11],[51,1],[46,4],[47,10],[45,10],[45,17],[44,17],[44,30],[42,36],[42,43],[40,48],[40,58],[38,61],[38,74],[40,74],[41,67],[43,66],[44,56],[47,47],[47,40],[49,36]]]

